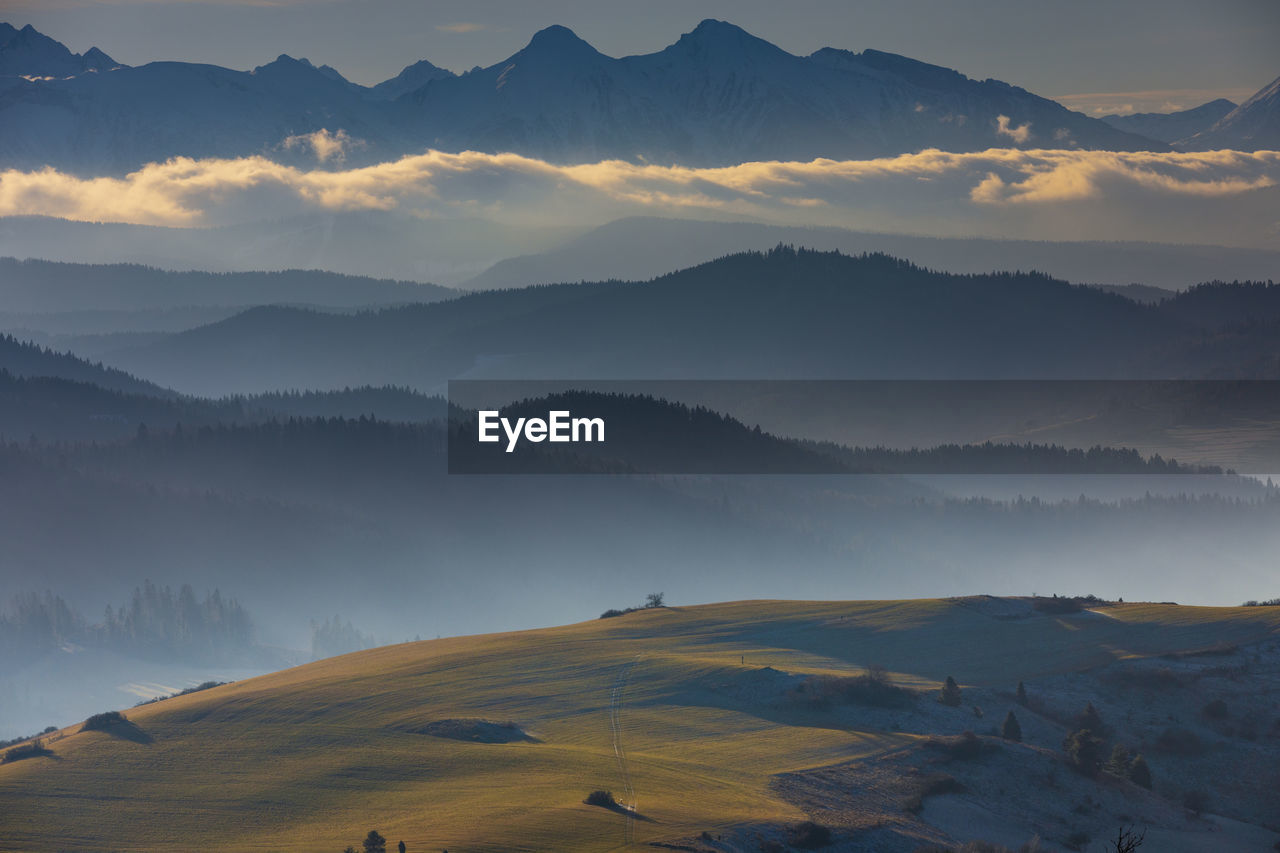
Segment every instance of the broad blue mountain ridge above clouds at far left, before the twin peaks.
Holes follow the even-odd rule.
[[[161,61],[0,81],[0,163],[18,168],[97,174],[173,156],[310,159],[305,145],[287,141],[324,127],[384,146],[407,143],[361,87],[289,56],[251,72]]]

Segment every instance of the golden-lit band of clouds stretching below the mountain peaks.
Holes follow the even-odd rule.
[[[3,172],[0,215],[198,227],[355,210],[564,224],[652,214],[941,236],[1280,243],[1277,151],[929,150],[710,169],[428,151],[343,168],[358,141],[342,132],[289,145],[320,163],[178,158],[123,178]]]

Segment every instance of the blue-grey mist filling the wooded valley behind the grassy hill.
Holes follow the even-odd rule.
[[[150,698],[138,683],[180,689],[370,643],[581,621],[652,592],[677,607],[1276,594],[1280,491],[1257,482],[1210,493],[1167,475],[1146,478],[1164,493],[1108,482],[1102,500],[1059,501],[1034,497],[1061,492],[1055,478],[993,500],[973,496],[975,479],[462,476],[443,473],[439,426],[367,419],[9,444],[0,465],[0,596],[72,613],[6,666],[23,708],[5,716],[23,722],[10,736],[69,722],[88,699],[120,706],[122,689]],[[230,630],[237,620],[251,630]],[[64,676],[91,661],[97,686],[72,702]]]

